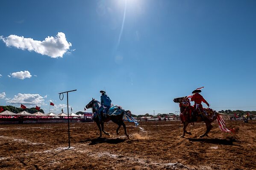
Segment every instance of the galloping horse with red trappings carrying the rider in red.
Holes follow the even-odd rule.
[[[191,135],[190,132],[186,131],[186,127],[188,126],[189,123],[192,122],[201,122],[204,121],[206,124],[206,132],[203,133],[203,135],[200,135],[200,138],[203,138],[204,136],[208,136],[208,133],[212,129],[211,123],[217,119],[219,127],[222,131],[224,132],[231,132],[231,130],[227,129],[225,122],[223,118],[229,119],[229,116],[226,114],[221,114],[216,112],[215,110],[209,109],[209,108],[204,108],[201,113],[198,113],[194,117],[190,115],[191,111],[194,109],[194,107],[191,106],[189,99],[187,96],[181,97],[181,98],[174,98],[175,103],[179,103],[180,107],[180,120],[183,123],[183,135],[180,137],[184,137],[185,133]]]

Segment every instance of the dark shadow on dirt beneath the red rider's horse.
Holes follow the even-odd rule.
[[[235,145],[233,142],[238,142],[235,138],[218,139],[218,138],[187,138],[189,141],[203,142],[209,144],[223,144],[223,145]]]

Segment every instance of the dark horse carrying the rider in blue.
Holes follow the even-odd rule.
[[[100,102],[95,100],[94,98],[92,98],[92,101],[90,101],[85,107],[86,109],[90,109],[92,108],[92,113],[96,113],[97,110],[100,108]],[[118,124],[118,128],[116,130],[116,134],[118,135],[118,131],[120,129],[121,126],[124,127],[124,134],[127,136],[127,138],[129,138],[129,135],[127,134],[127,131],[126,131],[126,125],[124,124],[124,121],[123,121],[123,116],[124,114],[127,116],[127,114],[129,114],[129,110],[123,110],[123,112],[119,115],[111,115],[109,116],[108,114],[106,114],[106,117],[105,116],[102,116],[102,121],[100,123],[99,121],[99,116],[94,116],[93,120],[96,122],[99,130],[100,130],[100,136],[99,138],[101,138],[102,136],[102,133],[105,133],[106,135],[110,135],[109,133],[107,133],[105,130],[104,130],[104,122],[108,122],[108,121],[113,121],[115,124]]]

